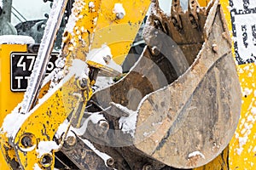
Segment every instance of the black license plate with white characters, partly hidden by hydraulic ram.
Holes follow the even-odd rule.
[[[55,69],[55,60],[58,54],[51,54],[47,65],[46,76]],[[11,54],[11,83],[10,88],[13,92],[25,92],[32,69],[35,64],[37,54],[12,53]]]

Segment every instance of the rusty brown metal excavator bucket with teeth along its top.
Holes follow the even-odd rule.
[[[205,165],[229,144],[241,111],[222,8],[218,1],[199,8],[190,0],[183,12],[173,0],[170,16],[154,1],[143,34],[147,46],[136,65],[96,92],[87,109],[102,111],[111,131],[104,139],[85,136],[96,144],[104,141],[108,146],[101,150],[114,160],[123,157],[120,162],[131,169]]]

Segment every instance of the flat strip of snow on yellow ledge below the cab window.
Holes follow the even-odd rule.
[[[29,36],[4,35],[0,36],[0,44],[30,44],[35,40]]]

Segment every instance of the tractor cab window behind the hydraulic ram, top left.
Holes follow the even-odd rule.
[[[49,18],[52,0],[0,0],[0,35],[23,35],[32,37],[40,43]],[[68,10],[73,0],[68,3]],[[69,14],[67,12],[66,14]],[[61,49],[61,35],[65,28],[65,20],[56,37],[55,50]]]

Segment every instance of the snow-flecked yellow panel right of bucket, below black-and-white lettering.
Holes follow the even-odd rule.
[[[241,118],[230,142],[230,169],[256,169],[256,65],[239,65]]]

